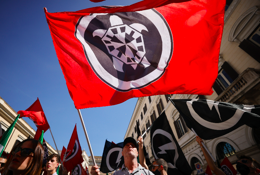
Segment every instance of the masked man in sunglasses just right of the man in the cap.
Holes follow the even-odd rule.
[[[167,175],[167,162],[164,159],[155,159],[152,162],[152,173],[155,175]]]

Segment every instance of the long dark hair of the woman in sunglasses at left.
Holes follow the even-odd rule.
[[[30,161],[28,161],[27,168],[24,170],[23,175],[39,175],[41,173],[42,161],[44,157],[43,145],[38,140],[26,139],[12,149],[12,151],[10,152],[11,155],[6,162],[6,165],[4,166],[2,174],[13,175],[13,171],[9,170],[9,165],[13,159],[12,153],[15,148],[20,147],[24,142],[27,141],[30,141],[32,143],[32,149],[34,150],[34,153],[31,153],[33,157]]]

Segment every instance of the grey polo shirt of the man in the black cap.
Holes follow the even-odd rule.
[[[130,173],[127,168],[125,168],[124,164],[122,166],[122,169],[119,171],[114,172],[113,175],[154,175],[151,171],[145,169],[138,163],[138,167],[133,171],[133,173]]]

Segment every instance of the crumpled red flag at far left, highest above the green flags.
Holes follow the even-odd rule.
[[[26,111],[29,111],[29,113],[27,114]],[[32,111],[32,113],[30,113],[31,111]],[[18,111],[18,112],[21,112],[21,114],[23,114],[23,115],[29,115],[29,116],[22,116],[22,117],[31,117],[30,115],[35,115],[35,117],[37,117],[37,119],[35,119],[35,118],[33,119],[35,125],[37,126],[37,131],[35,133],[34,139],[38,140],[39,137],[41,136],[41,131],[43,130],[43,132],[45,132],[49,129],[50,126],[49,126],[49,123],[48,123],[48,121],[45,117],[43,109],[41,107],[41,103],[40,103],[39,98],[37,98],[37,100],[28,109],[26,109],[25,111]],[[33,113],[33,112],[35,112],[35,113]],[[41,113],[41,117],[40,117],[39,112]],[[35,122],[35,120],[41,121],[41,119],[42,119],[41,125],[39,125]]]

